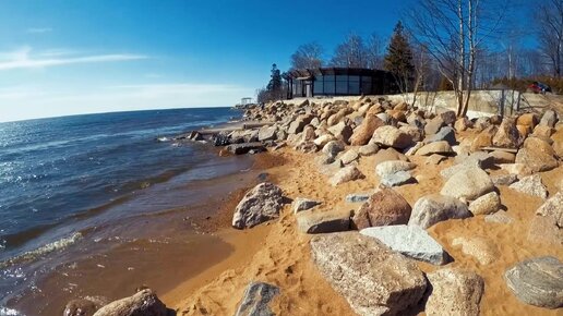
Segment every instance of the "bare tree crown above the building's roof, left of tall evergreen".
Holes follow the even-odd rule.
[[[368,57],[363,39],[354,33],[348,35],[345,41],[336,47],[331,64],[345,68],[367,68]]]

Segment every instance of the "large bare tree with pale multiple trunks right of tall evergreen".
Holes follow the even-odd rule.
[[[494,0],[420,0],[407,20],[414,38],[428,48],[438,69],[452,84],[458,117],[467,114],[477,52],[499,31],[504,16],[504,11],[492,4],[499,3]]]

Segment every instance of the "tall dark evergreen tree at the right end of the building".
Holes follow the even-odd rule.
[[[409,81],[414,75],[415,65],[412,64],[412,50],[400,21],[393,31],[383,66],[393,73],[402,92],[409,92]]]

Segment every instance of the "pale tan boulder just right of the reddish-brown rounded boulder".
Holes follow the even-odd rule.
[[[468,217],[471,217],[471,212],[465,203],[455,197],[432,194],[415,203],[408,224],[426,229],[443,220]]]

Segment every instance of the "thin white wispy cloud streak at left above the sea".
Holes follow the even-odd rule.
[[[14,69],[40,69],[77,63],[131,61],[148,58],[144,54],[132,53],[68,56],[68,51],[55,52],[56,53],[53,53],[53,51],[46,51],[46,53],[32,56],[32,48],[24,47],[15,51],[0,53],[0,71]]]

